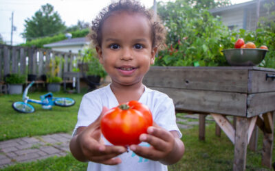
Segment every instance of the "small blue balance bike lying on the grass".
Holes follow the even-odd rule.
[[[47,94],[41,95],[40,98],[41,100],[34,100],[30,99],[27,94],[29,88],[34,84],[34,81],[30,83],[27,88],[25,88],[23,92],[23,101],[17,101],[12,103],[13,109],[16,111],[19,111],[21,113],[32,113],[35,111],[34,107],[30,105],[29,103],[37,103],[42,105],[43,109],[52,109],[52,106],[57,105],[61,107],[69,107],[74,105],[76,101],[72,98],[67,98],[67,97],[54,97],[52,92],[48,92]]]

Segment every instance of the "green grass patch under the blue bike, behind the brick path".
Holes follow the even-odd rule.
[[[28,96],[40,99],[39,96],[43,93],[31,92]],[[1,95],[0,141],[49,133],[72,132],[83,94],[54,93],[54,96],[74,98],[76,104],[72,107],[54,106],[47,110],[42,109],[41,105],[31,103],[36,111],[32,114],[22,114],[12,108],[14,101],[22,101],[22,95]]]

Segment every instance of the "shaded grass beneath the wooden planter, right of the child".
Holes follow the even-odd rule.
[[[215,135],[215,124],[206,127],[206,140],[199,140],[198,127],[181,130],[186,151],[184,157],[176,164],[169,166],[169,171],[180,170],[232,170],[234,146],[225,133],[221,137]],[[263,133],[259,130],[259,139],[256,152],[248,149],[246,170],[270,170],[261,166],[261,148]],[[275,150],[273,148],[273,158]],[[274,160],[273,160],[274,161]]]

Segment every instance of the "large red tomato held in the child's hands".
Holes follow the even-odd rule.
[[[101,132],[113,145],[140,144],[139,137],[153,125],[153,117],[146,105],[129,101],[109,109],[100,121]]]

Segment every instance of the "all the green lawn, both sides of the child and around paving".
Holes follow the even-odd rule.
[[[31,93],[31,98],[39,98],[41,93]],[[45,135],[47,133],[72,133],[76,124],[76,114],[83,94],[63,94],[56,96],[68,96],[76,100],[73,107],[54,107],[47,111],[39,105],[34,105],[34,114],[19,114],[11,107],[13,101],[19,101],[20,95],[0,96],[0,140],[8,140],[16,137],[32,135]],[[184,114],[179,115],[183,117]],[[192,119],[188,119],[192,122]],[[169,171],[180,170],[232,170],[234,158],[234,146],[221,133],[221,137],[214,135],[214,122],[207,122],[206,141],[199,141],[198,127],[181,129],[186,146],[184,157],[172,166]],[[270,170],[261,166],[261,148],[263,133],[259,131],[258,148],[256,152],[248,149],[247,170]],[[273,156],[275,150],[273,149]],[[274,158],[274,157],[273,157]],[[274,161],[274,160],[273,160]],[[68,154],[65,157],[51,157],[36,162],[19,163],[3,170],[86,170],[87,163],[80,163]]]

